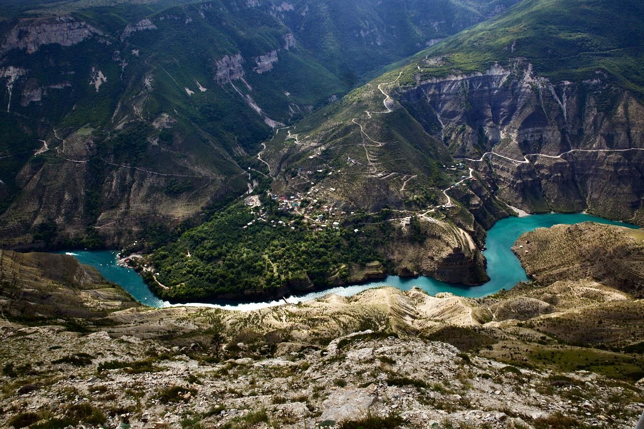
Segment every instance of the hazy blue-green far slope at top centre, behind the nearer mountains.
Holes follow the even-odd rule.
[[[301,0],[293,2],[298,40],[329,69],[355,82],[468,28],[516,0]]]

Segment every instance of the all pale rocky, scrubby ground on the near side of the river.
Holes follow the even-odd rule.
[[[574,246],[562,229],[547,233]],[[91,319],[56,304],[19,317],[11,309],[36,294],[9,286],[51,282],[44,257],[3,253],[3,426],[632,428],[644,408],[644,304],[607,279],[560,270],[479,300],[379,288],[247,313],[112,307]]]

